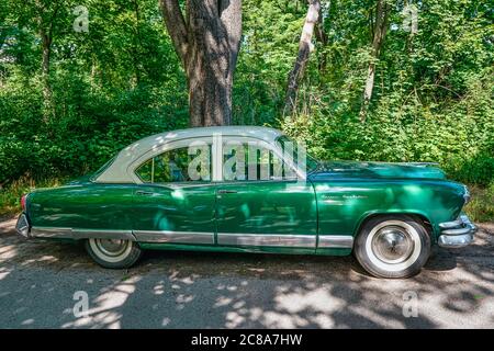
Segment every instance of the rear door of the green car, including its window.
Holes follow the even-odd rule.
[[[211,148],[211,138],[178,140],[142,157],[134,171],[141,182],[134,192],[137,240],[214,244]]]

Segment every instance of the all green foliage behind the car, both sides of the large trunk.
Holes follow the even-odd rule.
[[[37,4],[44,5],[41,13]],[[282,116],[306,1],[244,0],[233,91],[236,124],[272,125],[324,159],[436,161],[456,180],[494,174],[494,26],[486,0],[416,2],[418,33],[392,2],[369,114],[358,120],[375,1],[323,1],[327,43],[314,42],[293,118]],[[41,18],[54,16],[45,113]],[[188,125],[187,82],[156,0],[0,3],[0,184],[76,177],[125,145]],[[3,201],[3,200],[2,200]]]

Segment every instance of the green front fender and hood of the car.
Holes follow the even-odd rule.
[[[329,162],[311,177],[317,194],[319,234],[355,236],[372,215],[418,215],[431,225],[457,218],[464,185],[445,179],[436,167],[381,162]]]

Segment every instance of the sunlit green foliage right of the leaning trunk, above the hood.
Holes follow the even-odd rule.
[[[411,35],[401,27],[403,3],[395,2],[362,124],[371,5],[332,1],[328,44],[316,43],[297,115],[282,127],[321,158],[439,162],[453,179],[486,186],[494,179],[492,7],[419,2],[418,33]]]

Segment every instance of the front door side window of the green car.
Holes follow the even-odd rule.
[[[293,170],[273,150],[259,143],[223,144],[223,180],[295,179]]]

